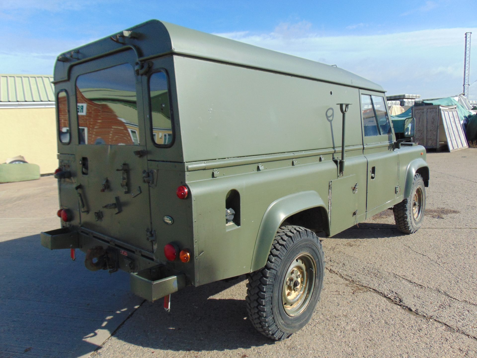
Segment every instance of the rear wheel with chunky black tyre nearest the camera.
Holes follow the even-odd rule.
[[[302,266],[295,268],[294,265]],[[287,291],[292,287],[287,284],[294,275],[291,273],[301,273],[302,268],[305,271],[301,276],[303,279],[298,278],[295,281],[301,280],[299,287],[295,286],[300,288],[300,292]],[[249,274],[245,300],[252,325],[260,333],[274,340],[290,337],[310,321],[320,300],[323,275],[323,250],[315,233],[301,226],[280,227],[265,267]],[[303,283],[307,282],[305,287]],[[300,305],[286,305],[285,300],[290,299],[289,296],[284,298],[286,292],[290,295],[301,295],[303,300],[300,301],[300,298],[298,301],[301,302]],[[290,316],[287,312],[295,313],[293,310],[296,314]]]

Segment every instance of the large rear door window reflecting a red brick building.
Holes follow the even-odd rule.
[[[133,66],[123,63],[76,79],[79,144],[139,145]]]

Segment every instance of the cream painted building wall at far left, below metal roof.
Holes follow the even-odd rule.
[[[55,108],[0,108],[0,163],[22,155],[40,173],[58,168]]]

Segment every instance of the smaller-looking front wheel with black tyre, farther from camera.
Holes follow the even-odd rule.
[[[420,174],[416,174],[411,194],[394,205],[394,221],[399,231],[406,234],[415,233],[422,225],[425,211],[425,186]]]

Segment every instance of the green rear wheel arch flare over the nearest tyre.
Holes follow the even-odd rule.
[[[255,241],[250,272],[267,263],[275,234],[284,221],[330,234],[328,210],[320,195],[314,190],[284,196],[270,204],[263,215]]]

